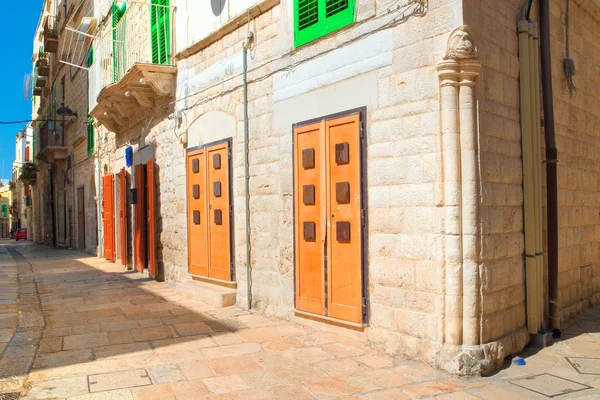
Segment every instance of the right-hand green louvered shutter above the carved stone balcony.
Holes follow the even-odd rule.
[[[150,42],[152,63],[171,63],[171,21],[169,0],[152,0],[150,5]]]

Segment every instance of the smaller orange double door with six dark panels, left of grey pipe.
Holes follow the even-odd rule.
[[[188,271],[233,280],[230,142],[189,149],[187,169]]]

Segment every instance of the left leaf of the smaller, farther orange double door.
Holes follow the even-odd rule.
[[[204,149],[187,154],[188,272],[208,276],[208,202]]]

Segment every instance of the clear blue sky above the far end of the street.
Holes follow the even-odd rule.
[[[0,24],[3,37],[0,40],[3,59],[0,121],[31,118],[31,99],[25,100],[23,78],[31,71],[33,34],[42,9],[42,0],[25,0],[19,4],[19,17],[5,17]],[[15,135],[22,128],[21,125],[0,125],[0,178],[11,178],[12,162],[15,159]]]

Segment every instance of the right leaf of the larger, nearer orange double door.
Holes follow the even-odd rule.
[[[362,192],[359,115],[325,122],[327,290],[332,318],[362,322]]]

